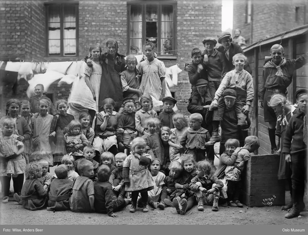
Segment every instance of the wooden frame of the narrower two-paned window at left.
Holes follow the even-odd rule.
[[[49,55],[49,38],[48,38],[48,19],[49,19],[49,12],[48,7],[50,5],[60,5],[60,55],[52,56]],[[73,55],[64,55],[64,28],[63,28],[63,19],[64,19],[64,6],[74,6],[76,12],[76,54]],[[45,6],[45,55],[46,57],[78,57],[79,56],[79,2],[63,2],[63,1],[52,1],[44,3]]]

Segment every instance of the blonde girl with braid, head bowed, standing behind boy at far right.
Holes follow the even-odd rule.
[[[276,135],[279,138],[278,141],[278,151],[277,154],[280,155],[280,163],[279,163],[279,170],[278,170],[278,179],[285,179],[290,188],[291,194],[291,202],[288,205],[282,206],[282,210],[288,210],[292,208],[292,181],[291,175],[292,171],[290,168],[290,163],[286,162],[285,154],[281,152],[283,146],[283,140],[285,137],[286,127],[288,126],[290,118],[295,114],[298,109],[292,105],[290,101],[282,94],[274,94],[270,102],[268,103],[269,107],[274,109],[276,115],[278,116],[277,125],[276,125]],[[279,145],[280,143],[280,145]]]

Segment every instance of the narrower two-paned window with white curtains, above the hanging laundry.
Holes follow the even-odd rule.
[[[78,56],[78,4],[46,4],[46,56]]]

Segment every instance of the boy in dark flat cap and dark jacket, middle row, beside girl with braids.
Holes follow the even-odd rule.
[[[168,126],[172,129],[174,128],[172,117],[175,114],[173,107],[176,104],[176,99],[171,96],[166,96],[162,101],[164,104],[164,111],[158,115],[158,119],[160,120],[162,126]]]

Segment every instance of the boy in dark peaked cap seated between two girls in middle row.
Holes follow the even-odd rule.
[[[117,142],[119,146],[119,151],[124,151],[124,149],[130,148],[130,143],[133,138],[136,137],[136,124],[135,124],[135,99],[127,97],[123,100],[124,111],[121,113],[118,121],[118,130],[122,129],[122,134],[117,134]]]

